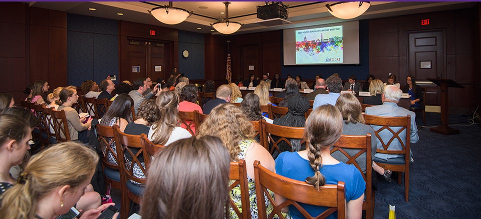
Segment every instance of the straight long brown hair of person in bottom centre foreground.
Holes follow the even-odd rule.
[[[142,218],[227,218],[229,158],[212,136],[177,140],[162,149],[148,169]]]

